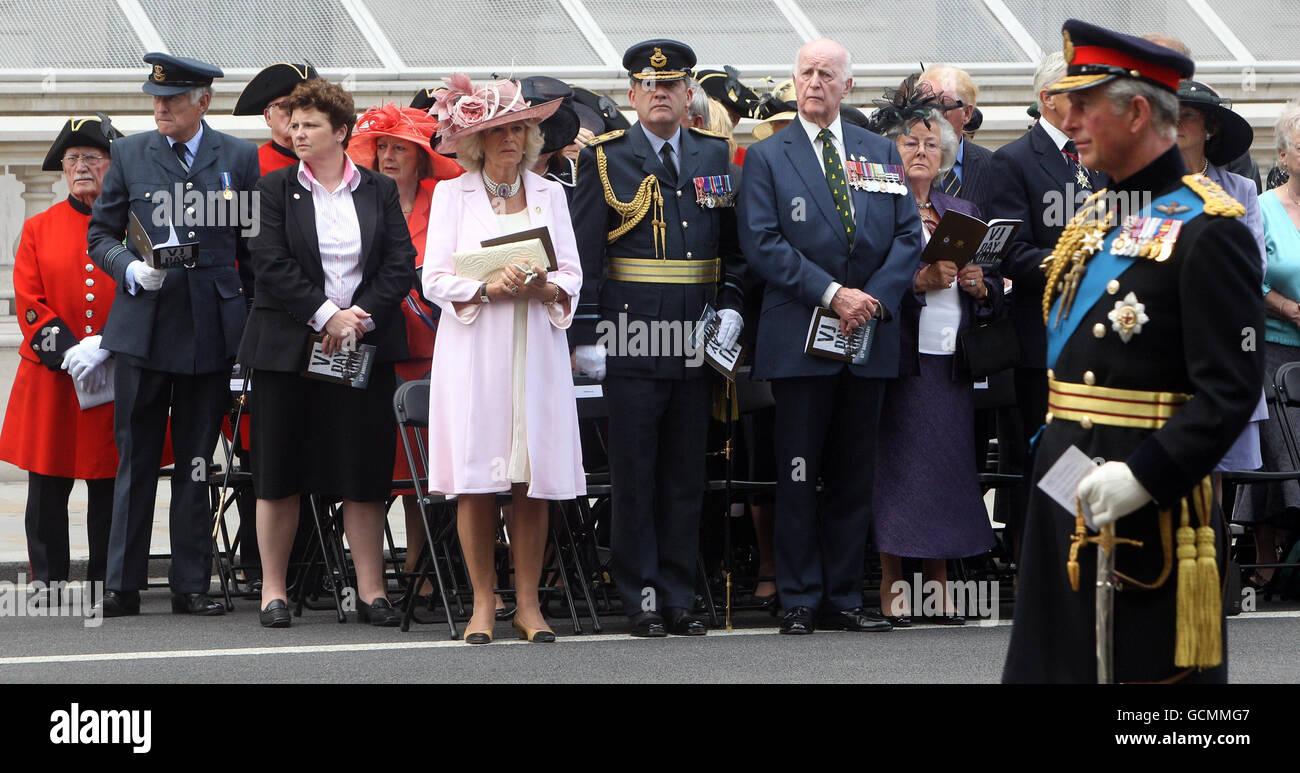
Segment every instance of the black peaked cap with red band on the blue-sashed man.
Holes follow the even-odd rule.
[[[1065,22],[1061,38],[1066,77],[1048,86],[1048,94],[1092,88],[1115,78],[1136,78],[1178,94],[1178,82],[1196,69],[1192,60],[1171,48],[1076,18]]]

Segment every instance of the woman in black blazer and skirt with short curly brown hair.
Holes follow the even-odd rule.
[[[395,183],[343,152],[356,122],[351,95],[304,81],[286,107],[302,161],[257,183],[256,292],[239,344],[239,362],[254,372],[261,624],[289,626],[285,574],[299,495],[318,494],[343,500],[361,618],[396,625],[384,586],[384,504],[396,448],[393,362],[407,357],[400,303],[415,282],[415,247]],[[376,347],[364,390],[302,375],[317,334],[326,352]]]

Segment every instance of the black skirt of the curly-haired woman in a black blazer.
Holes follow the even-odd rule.
[[[259,499],[318,494],[385,501],[393,490],[396,420],[391,362],[364,390],[257,370],[248,392],[252,487]]]

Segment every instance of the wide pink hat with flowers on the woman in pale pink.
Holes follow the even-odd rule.
[[[559,109],[562,99],[529,104],[519,91],[516,81],[493,81],[476,87],[469,75],[456,73],[443,81],[446,88],[438,91],[429,114],[438,118],[438,152],[456,152],[456,142],[476,131],[514,123],[515,121],[545,121]]]

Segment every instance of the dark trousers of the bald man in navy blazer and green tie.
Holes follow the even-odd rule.
[[[862,605],[883,381],[772,379],[776,399],[776,590],[781,605]],[[820,500],[818,478],[823,481]]]

